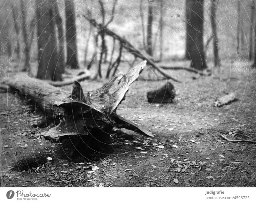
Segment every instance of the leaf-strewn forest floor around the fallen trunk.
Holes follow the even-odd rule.
[[[225,63],[224,63],[225,64]],[[1,92],[1,173],[6,187],[255,187],[255,144],[228,142],[256,140],[256,70],[234,61],[221,77],[167,71],[173,103],[150,104],[146,92],[166,81],[137,80],[117,113],[143,126],[154,138],[114,129],[114,153],[90,159],[71,159],[69,141],[51,143],[37,128],[39,116],[20,97]],[[241,68],[241,69],[240,69]],[[147,76],[144,70],[142,75]],[[151,73],[153,75],[153,73]],[[151,75],[151,76],[152,76]],[[193,79],[194,77],[194,79]],[[154,78],[154,76],[153,76]],[[107,80],[81,83],[85,91]],[[65,87],[67,90],[71,86]],[[237,100],[221,108],[213,102],[236,92]],[[47,157],[52,160],[47,160]],[[49,158],[48,158],[49,159]]]

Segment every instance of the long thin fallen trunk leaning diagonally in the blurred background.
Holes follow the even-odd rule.
[[[132,44],[127,41],[126,39],[120,37],[118,34],[114,33],[113,31],[109,30],[107,27],[102,26],[101,24],[97,23],[95,19],[89,19],[84,15],[84,18],[87,19],[91,25],[96,27],[100,32],[103,32],[104,34],[107,34],[114,39],[118,40],[120,44],[123,45],[125,49],[129,51],[129,53],[133,54],[134,56],[141,58],[142,60],[146,60],[149,65],[151,65],[154,69],[156,69],[158,72],[160,72],[166,79],[172,79],[175,82],[180,82],[179,80],[176,80],[175,78],[172,78],[172,76],[166,74],[164,71],[161,70],[160,67],[156,66],[155,61],[146,56],[145,54],[142,54],[138,49],[136,49]]]

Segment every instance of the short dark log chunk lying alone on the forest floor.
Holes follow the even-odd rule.
[[[171,103],[175,98],[174,86],[167,82],[157,90],[148,91],[147,98],[150,103]]]

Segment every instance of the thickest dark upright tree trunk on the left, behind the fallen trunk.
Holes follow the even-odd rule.
[[[39,5],[40,0],[36,0]],[[58,67],[60,53],[57,49],[57,28],[54,21],[54,4],[57,1],[45,0],[43,6],[36,10],[37,36],[38,36],[38,68],[36,78],[61,80],[64,66]]]

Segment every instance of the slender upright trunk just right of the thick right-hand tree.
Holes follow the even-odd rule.
[[[217,10],[217,3],[218,0],[211,1],[211,25],[212,25],[212,38],[213,38],[213,56],[214,56],[214,66],[220,66],[220,59],[218,58],[218,49],[219,47],[219,40],[217,36],[217,26],[216,26],[216,10]]]

